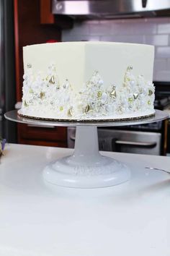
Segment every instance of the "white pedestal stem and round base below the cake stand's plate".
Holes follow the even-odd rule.
[[[99,154],[97,127],[76,127],[73,155],[50,163],[43,170],[47,182],[63,187],[97,188],[127,182],[130,169],[124,163]]]

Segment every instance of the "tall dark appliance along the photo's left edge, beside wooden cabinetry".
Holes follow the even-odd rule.
[[[0,0],[0,136],[16,142],[16,125],[4,119],[6,111],[14,109],[14,8],[12,0]]]

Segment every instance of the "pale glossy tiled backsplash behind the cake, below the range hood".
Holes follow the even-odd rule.
[[[75,22],[63,41],[103,40],[148,43],[155,47],[154,80],[170,81],[170,18]]]

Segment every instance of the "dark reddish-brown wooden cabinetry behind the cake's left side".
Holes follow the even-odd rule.
[[[45,9],[42,2],[47,4],[49,1],[14,0],[17,102],[22,101],[22,77],[24,74],[22,47],[35,43],[46,43],[48,40],[61,41],[61,28],[42,24],[42,9]],[[26,124],[17,124],[17,141],[21,144],[66,147],[66,127],[30,127]]]

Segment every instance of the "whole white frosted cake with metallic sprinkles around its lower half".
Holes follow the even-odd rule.
[[[153,46],[45,43],[23,48],[19,114],[42,119],[117,120],[154,114]]]

